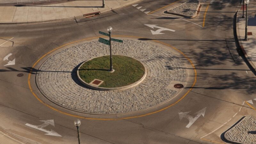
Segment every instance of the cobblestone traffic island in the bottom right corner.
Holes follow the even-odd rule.
[[[256,119],[252,116],[245,116],[233,128],[225,132],[225,139],[231,142],[242,144],[256,143]]]

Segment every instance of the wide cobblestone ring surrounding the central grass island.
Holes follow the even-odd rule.
[[[166,89],[172,80],[185,82],[186,70],[177,56],[157,45],[123,40],[112,42],[112,53],[140,60],[147,76],[139,85],[123,91],[97,91],[84,87],[76,77],[83,61],[109,55],[109,47],[98,41],[78,44],[49,57],[39,68],[39,90],[54,103],[76,111],[95,114],[134,112],[154,107],[177,92]]]

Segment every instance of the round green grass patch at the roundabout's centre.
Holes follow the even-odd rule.
[[[85,62],[79,69],[79,76],[91,83],[94,79],[104,81],[99,87],[122,87],[133,84],[144,75],[144,66],[131,57],[112,55],[113,69],[109,72],[110,60],[108,56],[94,58]]]

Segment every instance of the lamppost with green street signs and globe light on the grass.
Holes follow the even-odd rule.
[[[101,32],[101,31],[99,31],[99,33],[101,35],[109,36],[109,40],[106,40],[106,39],[100,37],[99,42],[103,43],[103,44],[109,45],[109,51],[110,51],[110,68],[109,68],[109,71],[113,72],[114,69],[113,69],[113,63],[112,63],[112,46],[111,46],[111,41],[115,41],[115,42],[119,42],[119,43],[123,43],[123,41],[119,40],[119,39],[111,38],[111,32],[113,30],[112,27],[108,27],[107,30],[108,30],[108,34],[104,33],[104,32]]]

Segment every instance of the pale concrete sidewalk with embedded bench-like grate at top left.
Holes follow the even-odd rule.
[[[72,19],[92,12],[107,12],[140,0],[71,1],[48,5],[0,6],[0,23],[27,23]]]

